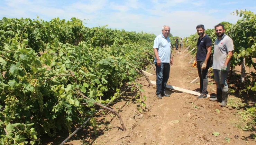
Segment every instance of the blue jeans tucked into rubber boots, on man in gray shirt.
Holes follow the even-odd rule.
[[[228,72],[213,69],[213,74],[214,74],[214,80],[216,82],[217,89],[221,89],[222,91],[228,91],[228,83],[227,83]]]

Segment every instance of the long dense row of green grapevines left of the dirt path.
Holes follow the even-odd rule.
[[[0,20],[0,144],[38,144],[40,135],[85,122],[95,101],[109,103],[136,85],[154,38],[87,28],[76,18]]]

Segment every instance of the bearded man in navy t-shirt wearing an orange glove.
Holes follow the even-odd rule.
[[[196,26],[196,31],[199,35],[197,40],[197,51],[195,55],[195,60],[193,67],[197,66],[198,75],[200,78],[200,93],[198,99],[207,98],[207,85],[208,85],[208,69],[210,66],[211,60],[211,49],[212,49],[212,40],[205,34],[205,29],[203,25]]]

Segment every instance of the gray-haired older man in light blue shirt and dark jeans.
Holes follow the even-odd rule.
[[[173,64],[171,56],[171,42],[168,37],[170,27],[163,26],[162,34],[158,35],[154,40],[155,66],[156,66],[156,96],[162,99],[162,96],[170,97],[166,94],[165,87],[170,74],[170,65]]]

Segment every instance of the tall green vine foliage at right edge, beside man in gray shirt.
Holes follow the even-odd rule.
[[[230,37],[234,41],[234,64],[240,65],[245,58],[246,65],[256,66],[252,58],[256,58],[256,15],[251,11],[236,11],[236,15],[243,17],[230,29]]]

